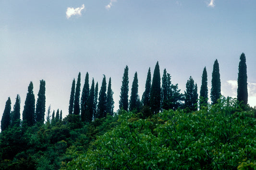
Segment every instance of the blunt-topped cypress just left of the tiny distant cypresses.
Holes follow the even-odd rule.
[[[40,80],[40,88],[37,94],[36,122],[44,123],[45,121],[45,80]]]

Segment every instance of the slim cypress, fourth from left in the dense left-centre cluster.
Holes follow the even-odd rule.
[[[86,122],[91,122],[93,120],[93,114],[94,114],[94,79],[92,79],[92,85],[91,89],[89,92],[89,97],[88,97],[88,106],[87,110],[85,112],[85,120]]]

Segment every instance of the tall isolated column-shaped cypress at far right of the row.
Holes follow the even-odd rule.
[[[248,91],[247,91],[247,66],[244,53],[240,56],[240,62],[238,67],[238,79],[237,79],[237,100],[239,102],[248,102]]]

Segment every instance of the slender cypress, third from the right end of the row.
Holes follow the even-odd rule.
[[[200,88],[200,108],[201,106],[207,106],[208,102],[208,87],[207,87],[207,71],[206,67],[204,68],[202,75],[202,84]]]

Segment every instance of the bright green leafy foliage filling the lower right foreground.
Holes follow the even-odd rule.
[[[193,113],[170,110],[148,119],[122,113],[121,125],[99,136],[66,169],[253,169],[252,114],[224,97]]]

